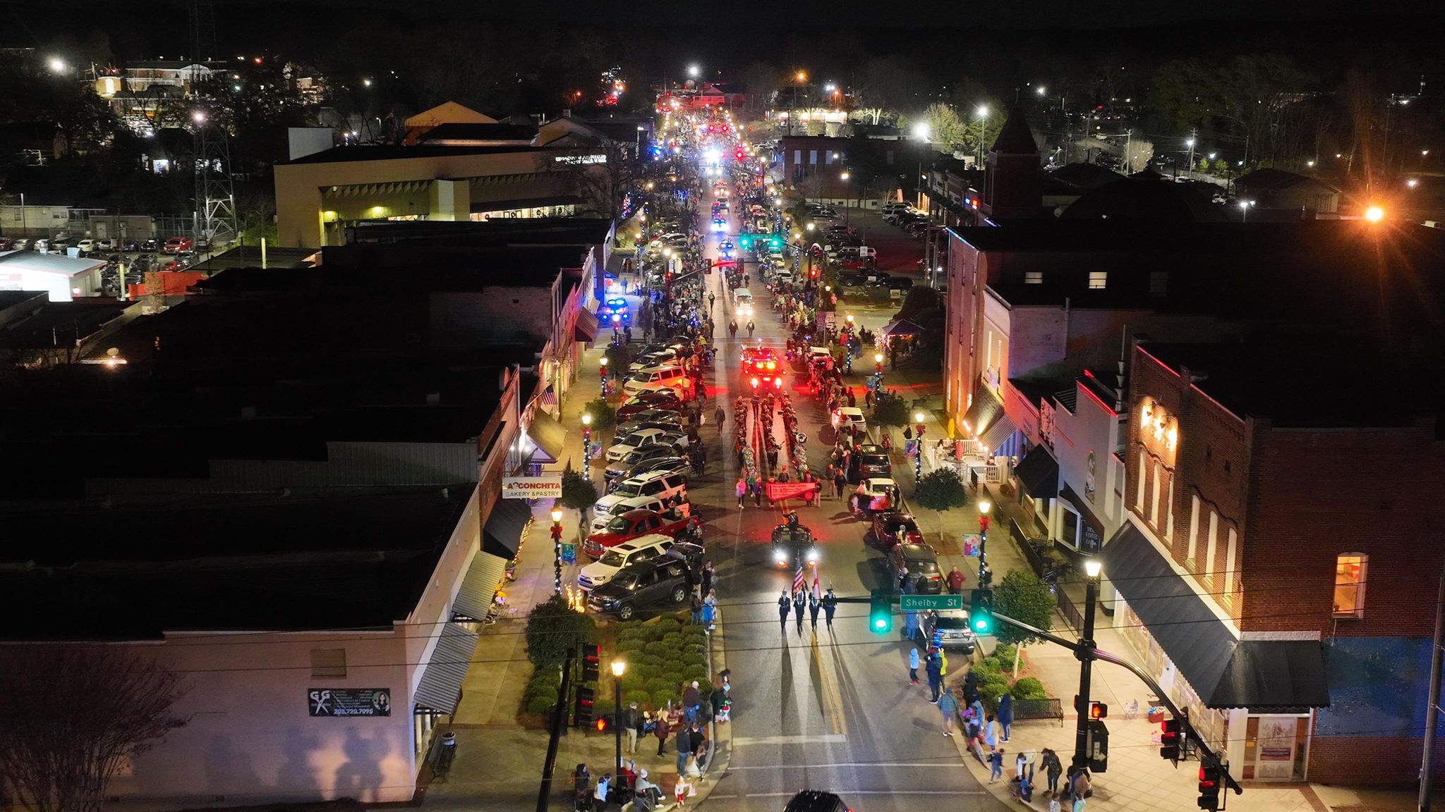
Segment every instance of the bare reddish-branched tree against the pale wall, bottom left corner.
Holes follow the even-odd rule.
[[[0,776],[36,812],[97,812],[105,785],[188,718],[181,678],[117,646],[13,646],[0,668]]]

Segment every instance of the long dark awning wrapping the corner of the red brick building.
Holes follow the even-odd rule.
[[[1237,640],[1131,522],[1104,545],[1104,572],[1205,707],[1329,705],[1318,640]]]

